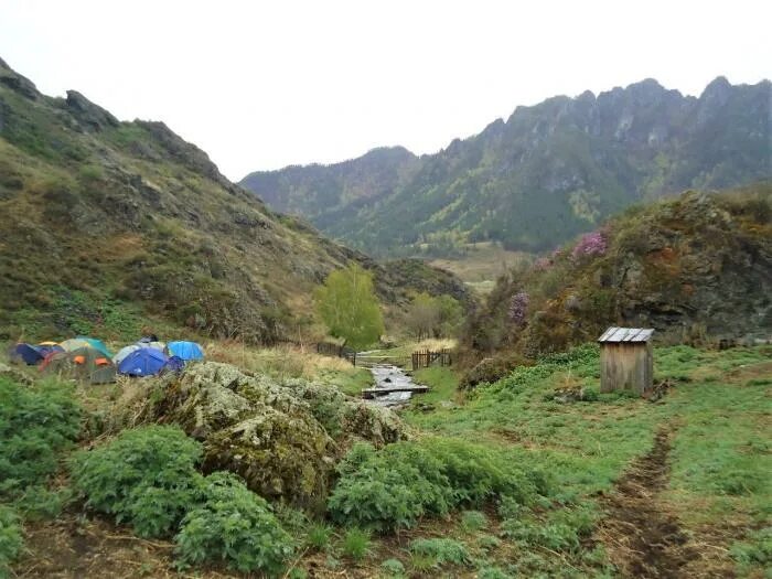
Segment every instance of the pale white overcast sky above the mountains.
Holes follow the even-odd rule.
[[[0,0],[49,95],[163,120],[238,180],[385,144],[435,152],[517,105],[654,77],[772,76],[772,2]]]

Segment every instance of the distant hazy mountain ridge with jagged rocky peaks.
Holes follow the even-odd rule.
[[[437,154],[378,149],[242,184],[375,255],[542,250],[636,202],[769,178],[770,90],[719,77],[695,98],[646,79],[518,107]]]

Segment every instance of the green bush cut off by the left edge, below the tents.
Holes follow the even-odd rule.
[[[55,382],[22,386],[0,377],[0,497],[42,484],[81,431],[72,388]]]

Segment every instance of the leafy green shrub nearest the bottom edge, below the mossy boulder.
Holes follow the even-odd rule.
[[[229,472],[206,476],[203,497],[185,515],[175,538],[183,566],[222,560],[242,572],[283,570],[292,540],[262,497]]]

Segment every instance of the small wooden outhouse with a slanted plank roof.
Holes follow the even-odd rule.
[[[654,379],[654,330],[609,328],[600,343],[600,392],[633,390],[643,394]]]

